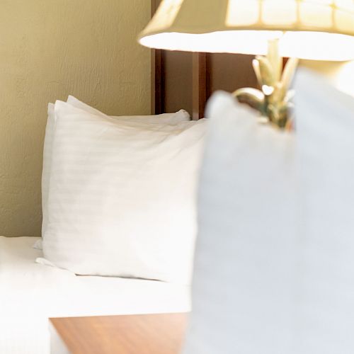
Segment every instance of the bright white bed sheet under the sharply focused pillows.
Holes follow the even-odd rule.
[[[35,263],[38,238],[0,236],[0,353],[47,354],[49,317],[188,312],[190,289],[150,280],[78,277]]]

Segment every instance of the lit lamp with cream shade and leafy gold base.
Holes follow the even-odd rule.
[[[285,127],[297,59],[354,59],[354,0],[163,0],[139,42],[164,50],[258,55],[253,68],[261,91],[234,94]],[[292,58],[283,73],[282,57]]]

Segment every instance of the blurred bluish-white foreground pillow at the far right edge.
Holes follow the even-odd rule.
[[[354,350],[354,98],[307,70],[297,75],[303,271],[302,354]]]

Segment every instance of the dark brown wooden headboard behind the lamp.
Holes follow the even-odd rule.
[[[161,0],[152,0],[152,13]],[[152,52],[152,113],[184,108],[198,120],[207,99],[217,90],[257,87],[253,56],[189,52]]]

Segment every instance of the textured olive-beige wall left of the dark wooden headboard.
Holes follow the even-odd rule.
[[[0,234],[40,235],[47,102],[148,114],[149,0],[0,0]],[[79,132],[77,132],[79,134]]]

